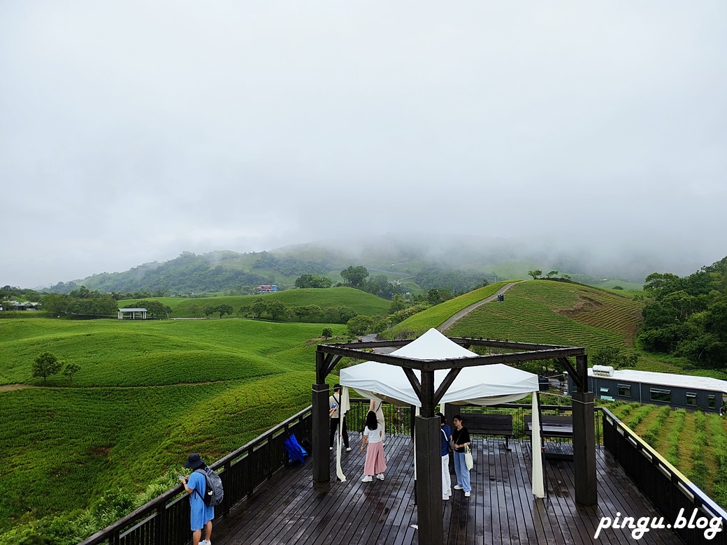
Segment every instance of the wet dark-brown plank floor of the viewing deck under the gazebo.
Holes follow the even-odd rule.
[[[230,516],[215,522],[214,545],[250,544],[417,544],[417,506],[411,438],[387,437],[387,472],[383,481],[361,483],[364,455],[359,435],[350,433],[353,451],[343,453],[345,483],[335,478],[314,484],[310,461],[281,469]],[[601,517],[658,517],[603,448],[598,448],[598,501],[595,508],[574,503],[573,464],[545,461],[548,496],[531,493],[531,451],[527,442],[475,438],[473,493],[462,491],[444,503],[447,545],[469,544],[633,544],[630,530],[606,529],[593,538]],[[562,443],[555,448],[567,448]],[[452,484],[454,485],[454,475]],[[671,521],[664,521],[671,522]],[[641,544],[682,541],[671,530],[654,529]]]

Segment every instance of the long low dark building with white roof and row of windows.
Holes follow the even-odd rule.
[[[588,386],[596,397],[608,401],[638,401],[719,414],[727,405],[727,381],[708,376],[593,366],[588,369]],[[569,391],[574,390],[569,379]]]

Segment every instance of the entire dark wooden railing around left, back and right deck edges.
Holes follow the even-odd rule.
[[[542,405],[543,413],[569,414],[569,405]],[[369,400],[352,399],[347,413],[348,429],[359,432],[364,428]],[[414,419],[413,407],[383,405],[387,433],[411,434]],[[525,416],[531,413],[531,405],[509,403],[491,407],[458,407],[466,414],[471,411],[484,413],[512,413],[516,437],[526,437]],[[602,415],[603,428],[599,425]],[[727,513],[716,505],[694,484],[681,475],[659,456],[638,435],[622,424],[605,408],[596,408],[596,443],[603,444],[624,467],[634,483],[664,516],[664,522],[673,523],[680,509],[687,518],[694,509],[699,517],[721,517],[727,522]],[[284,467],[288,456],[284,442],[289,434],[300,441],[312,437],[311,407],[278,424],[233,453],[211,465],[220,473],[225,488],[225,500],[215,508],[216,517],[225,516],[230,509],[247,498],[255,488],[270,479],[276,470]],[[603,429],[603,432],[601,432]],[[79,545],[184,545],[190,541],[189,500],[178,485],[158,496],[134,512],[126,515]],[[612,514],[615,516],[616,514]],[[638,514],[634,514],[638,516]],[[687,544],[704,543],[704,529],[675,529]],[[727,545],[727,536],[720,532],[710,543]]]

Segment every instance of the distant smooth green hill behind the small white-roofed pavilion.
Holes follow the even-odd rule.
[[[375,295],[367,294],[354,288],[302,288],[278,291],[271,294],[237,295],[219,297],[201,297],[198,299],[183,299],[180,297],[152,297],[150,300],[159,301],[172,309],[172,318],[195,318],[203,315],[204,307],[218,304],[230,304],[234,312],[240,307],[250,305],[260,297],[265,300],[277,299],[289,307],[302,307],[308,304],[317,304],[321,308],[351,307],[358,314],[382,315],[386,314],[391,302]],[[144,300],[123,299],[119,301],[119,308],[143,307]]]

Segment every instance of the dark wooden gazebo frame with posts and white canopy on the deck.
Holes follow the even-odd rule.
[[[434,331],[434,333],[432,333]],[[441,336],[448,339],[448,344],[457,344],[462,347],[454,357],[447,357],[438,347],[443,347],[441,342],[430,342]],[[420,339],[426,338],[427,342],[404,341],[383,341],[383,342],[355,342],[342,344],[319,344],[316,352],[316,384],[313,384],[313,480],[318,483],[329,481],[329,449],[328,446],[328,397],[329,386],[326,384],[328,376],[341,358],[348,357],[357,360],[365,360],[362,366],[371,367],[374,363],[385,364],[377,367],[377,371],[369,374],[366,368],[353,379],[350,374],[342,373],[341,382],[349,382],[350,386],[356,387],[357,391],[369,392],[376,397],[404,400],[405,389],[413,392],[414,398],[409,399],[411,404],[420,407],[420,416],[417,416],[414,423],[415,436],[418,438],[415,447],[416,473],[417,473],[417,519],[419,524],[419,544],[434,545],[442,543],[442,499],[441,499],[441,454],[439,452],[440,426],[439,419],[435,416],[435,407],[444,400],[446,403],[470,403],[473,400],[495,397],[507,394],[518,394],[523,389],[532,391],[531,384],[521,384],[520,389],[515,384],[508,386],[502,383],[494,384],[493,377],[501,376],[507,380],[505,374],[498,373],[499,368],[491,368],[495,372],[486,375],[473,375],[472,371],[482,366],[493,366],[505,363],[522,363],[526,361],[555,359],[558,360],[565,371],[573,379],[577,386],[577,392],[573,393],[573,448],[574,448],[574,473],[575,473],[575,501],[582,505],[594,505],[598,501],[596,488],[596,467],[595,467],[595,432],[593,428],[593,393],[587,390],[587,356],[582,347],[562,347],[551,344],[530,344],[492,341],[489,339],[462,339],[456,337],[444,337],[435,330],[427,331]],[[419,340],[419,339],[417,339]],[[411,350],[402,350],[403,347],[411,344]],[[489,347],[507,351],[501,354],[476,355],[468,350],[473,346]],[[369,352],[367,349],[378,347],[395,347],[398,350],[390,354],[379,354]],[[451,350],[451,349],[449,349]],[[466,353],[465,353],[466,352]],[[573,366],[569,358],[576,359]],[[356,366],[354,366],[356,367]],[[361,367],[361,366],[358,366]],[[387,367],[399,368],[392,373]],[[507,367],[507,366],[505,366]],[[386,373],[384,374],[384,371]],[[467,370],[462,374],[463,370]],[[512,369],[512,371],[519,371]],[[519,371],[523,373],[523,371]],[[378,376],[376,376],[378,374]],[[409,388],[400,381],[393,382],[387,379],[391,376],[403,376],[409,382]],[[490,387],[490,395],[481,395],[487,392],[486,389],[478,389],[477,384],[470,384],[472,388],[467,390],[467,384],[462,380],[457,383],[460,375],[470,375],[468,382],[488,380],[490,384],[480,384],[479,387]],[[484,377],[489,375],[489,379]],[[473,377],[479,376],[479,379]],[[346,379],[344,379],[346,377]],[[513,375],[520,377],[522,375]],[[370,388],[366,389],[364,384],[353,384],[356,380],[369,381]],[[515,381],[518,378],[514,378]],[[526,381],[527,382],[527,381]],[[384,386],[387,383],[387,387]],[[394,386],[393,384],[396,384]],[[462,390],[465,384],[465,390]],[[493,388],[494,387],[494,388]],[[458,391],[459,390],[459,391]],[[515,391],[518,390],[518,391]],[[467,391],[469,393],[467,393]],[[388,395],[387,393],[388,392]],[[479,392],[479,393],[478,393]],[[449,395],[449,397],[447,397]],[[453,397],[454,396],[454,397]],[[502,399],[501,401],[505,401]],[[418,403],[417,403],[418,402]],[[485,404],[485,403],[478,403]],[[534,489],[535,493],[535,489]],[[539,494],[536,493],[536,496]],[[537,499],[535,501],[538,501]]]

